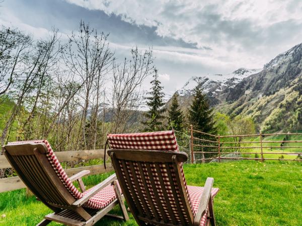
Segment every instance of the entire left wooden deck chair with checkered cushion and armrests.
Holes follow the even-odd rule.
[[[51,221],[93,225],[117,204],[123,213],[123,217],[117,217],[128,220],[115,174],[85,190],[81,178],[90,171],[68,177],[46,140],[10,143],[3,150],[24,184],[54,211],[37,225]],[[79,181],[82,192],[72,184],[75,180]]]

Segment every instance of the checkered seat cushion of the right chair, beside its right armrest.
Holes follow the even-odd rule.
[[[194,208],[194,211],[197,212],[200,198],[203,192],[203,187],[198,187],[198,186],[190,186],[188,185],[188,190],[190,194],[190,198],[192,201],[192,205]],[[212,194],[212,199],[215,197],[215,195],[218,193],[219,188],[212,188],[211,194]],[[200,221],[200,226],[204,226],[206,223],[207,219],[207,212],[202,216],[201,221]]]

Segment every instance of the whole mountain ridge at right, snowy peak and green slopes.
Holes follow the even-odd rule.
[[[198,82],[215,111],[252,117],[258,131],[302,129],[302,43],[278,54],[262,69],[191,77],[178,90],[185,112]]]

